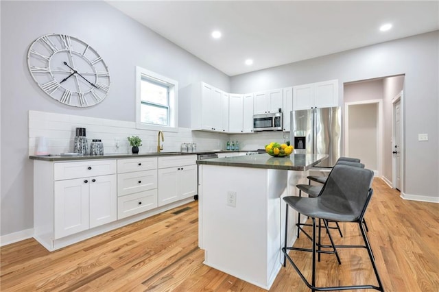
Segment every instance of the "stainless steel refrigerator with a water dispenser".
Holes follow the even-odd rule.
[[[340,107],[293,110],[290,121],[289,141],[294,145],[294,153],[328,154],[316,167],[333,167],[342,151]]]

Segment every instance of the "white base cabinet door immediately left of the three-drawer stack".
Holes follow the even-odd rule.
[[[116,175],[90,178],[90,228],[101,226],[117,219]]]

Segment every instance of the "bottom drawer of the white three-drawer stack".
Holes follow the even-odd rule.
[[[157,189],[117,198],[117,219],[129,217],[157,207]]]

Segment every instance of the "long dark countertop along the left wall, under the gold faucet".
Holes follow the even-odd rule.
[[[43,161],[71,161],[71,160],[96,160],[96,159],[114,159],[114,158],[147,158],[147,157],[159,157],[159,156],[180,156],[180,155],[199,155],[199,154],[213,154],[213,153],[231,153],[231,152],[248,152],[248,150],[239,151],[227,151],[227,150],[204,150],[196,152],[162,152],[162,153],[143,153],[143,154],[107,154],[107,155],[95,155],[95,156],[36,156],[31,155],[29,159],[43,160]]]

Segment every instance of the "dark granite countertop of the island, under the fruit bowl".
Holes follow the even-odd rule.
[[[289,157],[272,157],[268,154],[254,154],[247,156],[233,156],[229,158],[197,160],[197,164],[307,171],[327,157],[327,154],[292,154]]]

